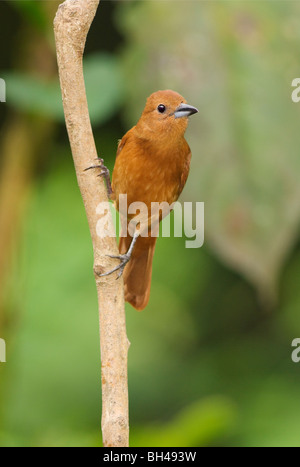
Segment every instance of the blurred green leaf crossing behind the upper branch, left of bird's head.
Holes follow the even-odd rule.
[[[21,72],[3,75],[8,83],[7,100],[11,105],[28,114],[63,122],[58,80],[47,82]],[[123,98],[118,62],[108,54],[89,55],[84,60],[84,75],[91,121],[94,124],[103,123],[114,115]]]

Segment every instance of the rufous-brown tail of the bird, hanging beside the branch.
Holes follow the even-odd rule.
[[[120,237],[120,254],[126,253],[132,237]],[[149,301],[152,261],[157,237],[138,237],[132,256],[124,269],[125,300],[137,310],[143,310]]]

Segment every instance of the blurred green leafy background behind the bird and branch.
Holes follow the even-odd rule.
[[[1,446],[101,445],[92,248],[64,127],[53,1],[0,2]],[[127,306],[132,446],[299,446],[300,3],[101,1],[85,77],[99,154],[146,97],[200,113],[182,201],[205,245],[161,238]]]

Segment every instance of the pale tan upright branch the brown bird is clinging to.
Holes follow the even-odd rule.
[[[97,235],[96,210],[100,202],[108,201],[106,188],[104,181],[97,178],[97,170],[85,171],[95,164],[97,151],[87,106],[82,57],[98,5],[99,0],[66,0],[57,11],[54,31],[66,126],[94,249],[102,362],[103,444],[126,447],[129,438],[129,342],[126,335],[123,279],[116,280],[115,274],[105,278],[98,276],[115,264],[116,260],[107,255],[118,254],[118,249],[110,216],[107,217],[106,228],[111,236],[103,238]],[[99,89],[100,92],[105,92],[105,89]]]

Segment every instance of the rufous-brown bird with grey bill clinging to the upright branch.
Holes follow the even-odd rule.
[[[136,126],[119,142],[112,176],[112,195],[117,210],[119,196],[127,195],[127,207],[143,202],[148,208],[144,222],[148,236],[136,230],[129,235],[128,227],[121,232],[120,264],[111,274],[124,269],[125,300],[137,310],[148,303],[151,286],[152,260],[157,237],[151,236],[151,203],[177,201],[188,177],[191,150],[184,138],[188,117],[198,112],[174,91],[157,91],[147,99]],[[120,213],[121,216],[125,213]],[[128,215],[128,222],[134,219]],[[159,220],[163,217],[160,214]],[[125,230],[125,231],[124,231]],[[145,227],[144,227],[145,233]],[[122,236],[125,235],[125,236]]]

